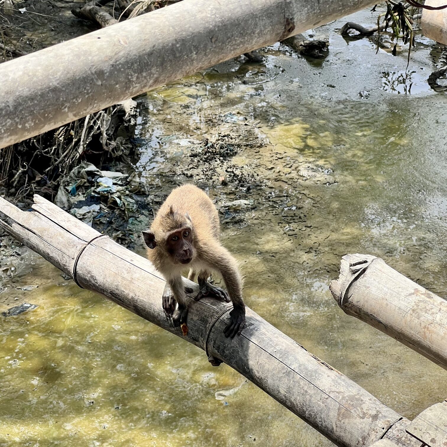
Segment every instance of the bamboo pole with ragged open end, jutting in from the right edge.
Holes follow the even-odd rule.
[[[342,257],[329,286],[348,315],[395,338],[447,369],[447,302],[393,270],[383,259]]]

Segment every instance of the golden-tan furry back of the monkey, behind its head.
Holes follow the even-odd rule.
[[[197,186],[186,184],[173,189],[157,215],[164,215],[169,207],[179,213],[188,213],[199,236],[219,239],[219,214],[211,199]]]

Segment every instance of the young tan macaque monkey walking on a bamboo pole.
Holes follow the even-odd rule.
[[[213,202],[196,186],[183,185],[169,194],[143,237],[149,247],[149,261],[166,279],[162,305],[173,324],[186,323],[188,308],[181,272],[189,266],[188,279],[194,280],[198,272],[200,291],[196,300],[214,295],[232,301],[230,322],[223,332],[233,338],[245,325],[242,278],[236,260],[220,244],[219,233],[219,215]],[[222,275],[228,293],[208,282],[212,271]]]

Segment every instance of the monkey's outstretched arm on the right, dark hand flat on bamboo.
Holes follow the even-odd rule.
[[[207,248],[207,259],[210,267],[217,270],[225,282],[228,295],[233,303],[230,312],[230,322],[223,329],[225,337],[233,338],[236,333],[240,335],[245,325],[245,304],[242,299],[242,277],[240,276],[236,259],[227,249],[220,245]]]

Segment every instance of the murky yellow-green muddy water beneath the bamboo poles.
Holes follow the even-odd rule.
[[[277,45],[264,64],[232,60],[141,98],[136,169],[160,199],[185,180],[206,189],[246,303],[411,418],[445,398],[445,371],[344,315],[328,284],[343,254],[370,253],[447,297],[447,104],[425,84],[445,51],[421,39],[402,78],[405,51],[375,55],[337,35],[341,24],[319,30],[322,63]],[[0,310],[39,307],[1,320],[1,446],[331,445],[231,368],[47,263],[16,286]]]

